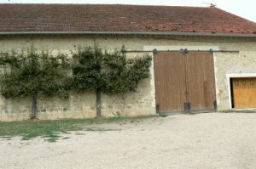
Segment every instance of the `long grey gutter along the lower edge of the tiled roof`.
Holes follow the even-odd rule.
[[[163,31],[0,31],[0,35],[138,35],[189,37],[256,37],[256,34]]]

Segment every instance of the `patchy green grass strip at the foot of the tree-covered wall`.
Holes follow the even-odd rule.
[[[55,142],[61,138],[61,133],[71,131],[109,131],[104,129],[88,128],[91,124],[102,124],[112,122],[125,121],[142,121],[154,116],[136,116],[136,117],[109,117],[95,119],[65,119],[55,121],[15,121],[15,122],[0,122],[0,138],[12,138],[15,136],[22,137],[22,140],[42,137],[46,141]],[[87,128],[87,129],[86,129]],[[67,137],[62,138],[67,139]]]

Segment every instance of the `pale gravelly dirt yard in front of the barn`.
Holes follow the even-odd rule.
[[[256,113],[170,115],[93,126],[49,143],[0,139],[0,168],[256,168]]]

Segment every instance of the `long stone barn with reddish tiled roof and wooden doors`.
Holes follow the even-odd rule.
[[[207,8],[0,4],[0,52],[31,47],[70,54],[81,46],[150,54],[136,93],[102,96],[102,115],[256,108],[256,23]],[[96,115],[96,93],[40,98],[40,119]],[[28,99],[0,98],[0,121],[29,117]]]

